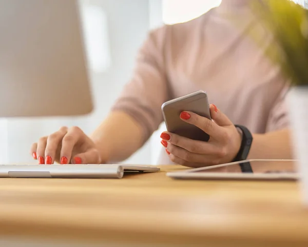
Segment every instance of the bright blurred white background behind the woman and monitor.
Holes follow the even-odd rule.
[[[307,1],[294,0],[307,5]],[[90,134],[106,117],[129,80],[134,58],[149,30],[186,22],[219,6],[221,0],[80,0],[95,109],[88,116],[0,119],[0,163],[35,162],[32,142],[61,126]],[[78,99],[76,99],[78,100]],[[126,163],[155,164],[164,124]]]

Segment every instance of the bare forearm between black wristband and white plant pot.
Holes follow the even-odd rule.
[[[293,159],[291,130],[254,134],[249,159]]]

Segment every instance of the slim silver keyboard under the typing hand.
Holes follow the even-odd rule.
[[[0,164],[2,178],[122,178],[125,173],[158,171],[131,164]]]

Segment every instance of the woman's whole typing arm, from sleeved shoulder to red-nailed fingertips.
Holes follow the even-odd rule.
[[[137,57],[130,82],[105,121],[87,136],[79,127],[62,127],[41,137],[30,153],[40,164],[95,164],[127,159],[163,120],[161,105],[168,100],[163,47],[166,27],[152,31]]]

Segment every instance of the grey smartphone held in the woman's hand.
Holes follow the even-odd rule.
[[[206,92],[199,90],[169,100],[162,105],[162,112],[167,131],[189,139],[208,141],[209,135],[194,125],[180,118],[182,111],[191,111],[211,120]]]

